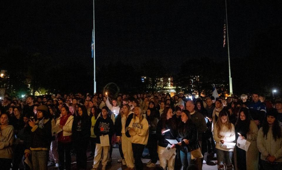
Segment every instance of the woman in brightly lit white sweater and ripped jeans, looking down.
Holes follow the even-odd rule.
[[[226,170],[232,170],[232,155],[235,147],[232,143],[235,141],[235,128],[229,122],[228,110],[223,109],[219,112],[218,120],[214,126],[214,141],[217,148],[217,168],[219,170],[225,169],[225,163]]]

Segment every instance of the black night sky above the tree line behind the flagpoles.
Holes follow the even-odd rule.
[[[260,58],[254,52],[261,50],[269,56],[258,57],[281,65],[281,1],[232,0],[227,7],[231,60],[256,63]],[[66,69],[93,70],[93,1],[1,1],[0,18],[2,54],[20,46],[28,53],[52,56],[51,64],[66,61]],[[97,0],[96,66],[122,61],[142,69],[154,59],[175,74],[189,58],[228,64],[224,18],[224,1]],[[15,68],[12,62],[21,63],[21,57],[0,57],[0,67],[8,70]]]

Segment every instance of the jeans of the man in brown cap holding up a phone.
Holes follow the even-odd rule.
[[[33,170],[47,170],[48,151],[31,151]]]

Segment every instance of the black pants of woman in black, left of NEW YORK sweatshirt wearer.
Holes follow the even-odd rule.
[[[76,168],[86,169],[87,166],[87,147],[88,140],[75,141],[75,153],[76,153]]]

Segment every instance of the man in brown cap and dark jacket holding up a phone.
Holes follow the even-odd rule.
[[[30,120],[31,146],[25,150],[25,157],[31,153],[33,170],[47,170],[48,150],[51,145],[52,125],[48,118],[48,107],[37,107],[37,121]]]

